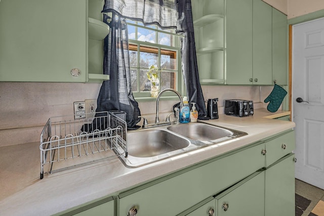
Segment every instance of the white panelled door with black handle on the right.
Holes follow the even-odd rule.
[[[324,18],[293,26],[292,95],[296,178],[324,189]]]

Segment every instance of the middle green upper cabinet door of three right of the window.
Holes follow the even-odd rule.
[[[253,84],[272,83],[272,7],[253,0]]]

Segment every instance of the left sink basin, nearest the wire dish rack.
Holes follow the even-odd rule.
[[[190,141],[168,131],[150,129],[127,135],[128,153],[134,157],[153,157],[190,145]]]

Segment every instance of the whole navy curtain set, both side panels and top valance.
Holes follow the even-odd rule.
[[[127,113],[129,128],[137,128],[140,110],[133,97],[130,80],[128,33],[125,18],[144,25],[175,28],[185,35],[181,41],[182,72],[189,102],[196,103],[198,119],[206,119],[206,107],[198,76],[190,0],[105,0],[103,13],[112,13],[111,22],[104,14],[111,32],[104,41],[104,81],[99,93],[97,111],[121,110]]]

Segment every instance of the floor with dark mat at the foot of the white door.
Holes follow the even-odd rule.
[[[324,216],[324,190],[298,179],[296,183],[296,216]]]

